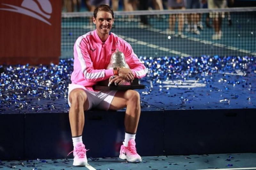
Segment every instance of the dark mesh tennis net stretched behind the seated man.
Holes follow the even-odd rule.
[[[61,58],[95,29],[92,12],[62,13]],[[219,28],[219,30],[218,30]],[[112,32],[138,56],[255,56],[256,8],[115,11]]]

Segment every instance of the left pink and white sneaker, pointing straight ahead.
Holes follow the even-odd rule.
[[[86,166],[87,165],[86,151],[88,151],[88,150],[85,149],[85,145],[83,143],[76,144],[74,151],[72,151],[73,155],[74,155],[74,162],[73,162],[74,166]],[[72,153],[72,152],[70,152],[70,153]]]

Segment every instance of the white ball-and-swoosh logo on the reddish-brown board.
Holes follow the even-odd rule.
[[[45,19],[51,18],[50,14],[52,13],[52,4],[49,0],[23,0],[21,6],[11,4],[2,5],[9,6],[11,8],[0,8],[0,10],[18,12],[51,25],[51,23]]]

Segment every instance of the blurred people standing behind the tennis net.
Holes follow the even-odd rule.
[[[114,11],[135,10],[186,10],[186,9],[220,9],[230,7],[256,6],[256,0],[62,0],[63,12],[94,11],[100,4],[110,5]],[[221,24],[223,18],[227,18],[228,26],[232,25],[230,12],[207,13],[204,24],[202,14],[177,14],[169,16],[168,34],[184,36],[184,31],[199,35],[204,26],[214,29],[212,40],[220,40],[223,33]],[[140,16],[140,22],[144,26],[150,26],[146,15]],[[175,28],[177,24],[177,28]],[[185,26],[184,26],[185,25]]]

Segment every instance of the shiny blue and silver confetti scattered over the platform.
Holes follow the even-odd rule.
[[[238,74],[237,70],[243,75],[255,74],[255,56],[165,56],[158,58],[140,57],[140,60],[148,69],[147,76],[140,80],[140,84],[147,85],[141,92],[141,98],[147,95],[160,96],[163,94],[175,97],[176,94],[168,92],[169,87],[164,87],[164,82],[176,80],[175,83],[172,83],[176,86],[180,84],[187,85],[188,83],[186,82],[188,80],[196,79],[196,82],[201,82],[202,84],[206,84],[207,87],[211,87],[211,91],[203,94],[203,96],[211,95],[214,91],[229,91],[234,88],[234,85],[239,88],[243,87],[244,91],[252,92],[253,90],[252,85],[247,82],[248,80],[246,78],[238,79],[235,76],[230,77],[230,75]],[[1,113],[4,113],[5,110],[12,110],[14,113],[20,113],[22,111],[26,113],[49,113],[49,111],[67,112],[69,109],[67,104],[67,87],[71,83],[70,75],[73,71],[73,62],[73,59],[61,59],[58,65],[0,65],[0,71],[4,70],[0,72]],[[236,67],[233,67],[233,63],[236,63]],[[212,78],[214,74],[222,75],[217,82],[223,85],[222,89],[218,89],[217,86],[212,85],[214,83]],[[186,95],[177,94],[177,96],[180,97],[179,104],[182,104],[178,104],[177,107],[179,106],[181,109],[184,105],[193,101]],[[194,98],[196,97],[194,96]],[[237,98],[238,94],[231,96],[232,100],[236,100]],[[251,102],[252,97],[247,96],[246,98]],[[60,99],[64,99],[66,102],[60,104],[57,102]],[[227,96],[223,96],[222,99],[226,99],[230,103],[232,102]],[[45,103],[44,101],[46,100],[50,100],[51,103]],[[228,104],[229,102],[225,101],[222,103]],[[141,107],[150,107],[150,104],[145,101],[141,104]],[[170,103],[168,104],[170,105]],[[194,106],[189,105],[187,108],[193,109]]]

